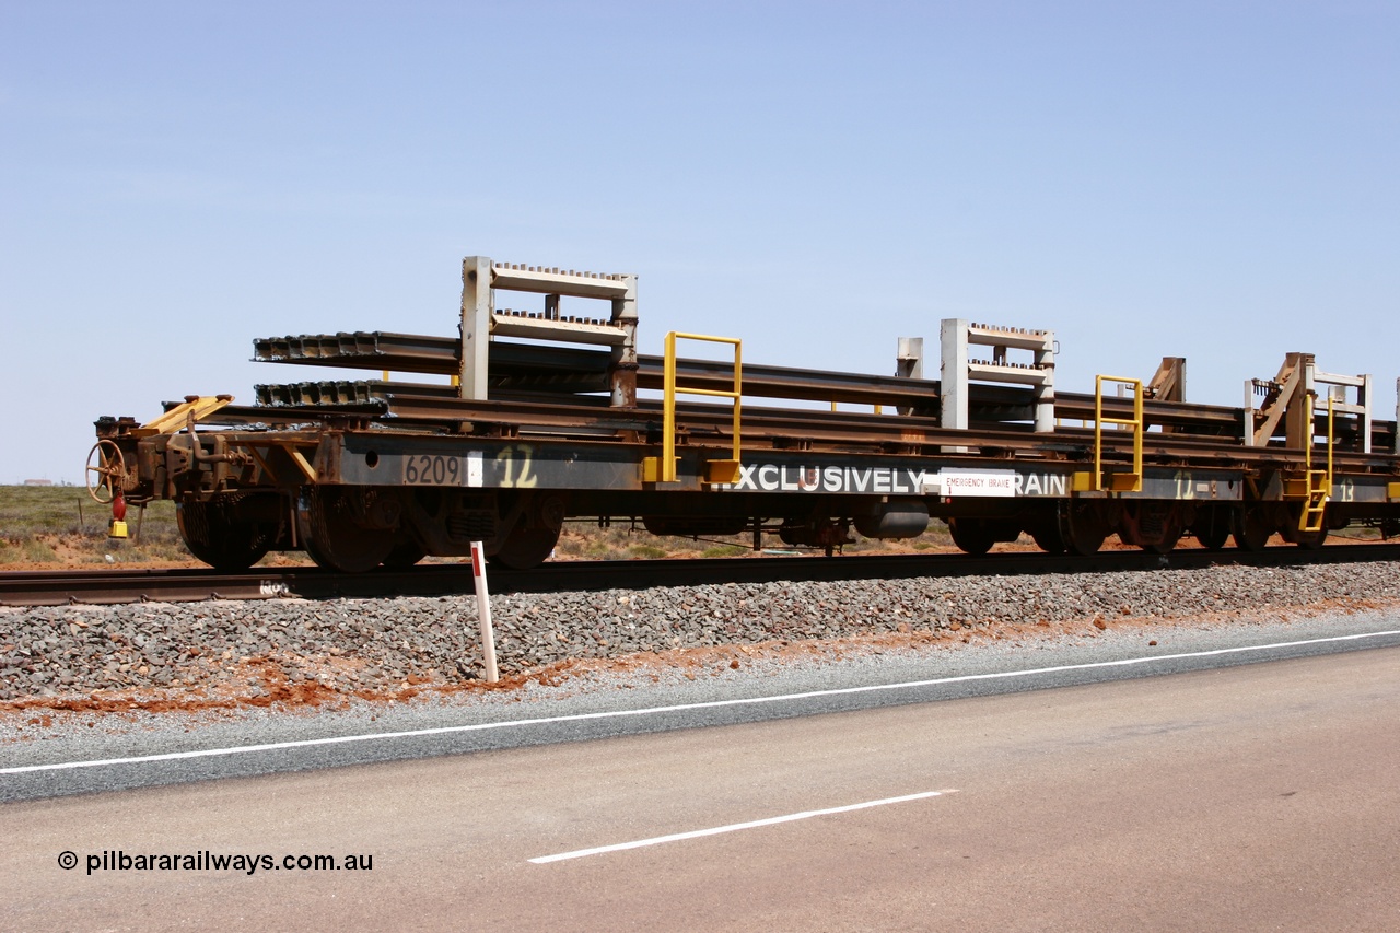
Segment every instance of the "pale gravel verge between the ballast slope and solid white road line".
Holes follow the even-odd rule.
[[[0,766],[24,769],[78,761],[125,759],[150,755],[179,755],[220,748],[307,742],[343,737],[399,733],[448,733],[465,726],[505,724],[556,720],[536,735],[512,738],[511,730],[477,735],[462,744],[420,742],[413,751],[372,751],[339,758],[291,758],[273,769],[354,763],[356,761],[451,754],[479,748],[567,741],[612,734],[602,717],[589,728],[574,728],[582,717],[619,710],[686,707],[727,703],[753,698],[819,693],[830,698],[834,691],[865,692],[911,682],[937,681],[939,692],[882,691],[865,705],[920,702],[963,695],[1036,689],[1065,679],[988,678],[1015,671],[1050,668],[1085,668],[1084,682],[1169,672],[1182,670],[1180,656],[1225,651],[1212,664],[1249,663],[1273,654],[1236,651],[1246,646],[1340,639],[1400,629],[1400,602],[1333,604],[1322,608],[1294,608],[1257,614],[1228,612],[1193,618],[1103,618],[1081,622],[1005,623],[956,630],[892,632],[846,639],[808,642],[767,642],[757,644],[703,646],[664,653],[631,653],[612,658],[594,658],[553,664],[543,670],[515,675],[501,685],[473,684],[451,689],[424,688],[405,699],[367,699],[337,696],[319,703],[235,705],[228,707],[161,709],[132,703],[120,709],[108,703],[102,710],[10,709],[0,712]],[[1366,639],[1331,642],[1326,650],[1366,647]],[[1383,643],[1400,643],[1389,639]],[[1288,656],[1287,651],[1282,656]],[[1102,667],[1131,658],[1162,658],[1161,667]],[[1099,667],[1091,667],[1099,665]],[[1077,671],[1071,671],[1079,675]],[[1075,682],[1072,678],[1070,682]],[[806,714],[851,709],[858,703],[850,696],[805,706],[781,709],[707,710],[708,717],[668,714],[655,728],[696,724],[720,724],[774,716]],[[795,710],[795,712],[794,712]],[[563,721],[560,721],[563,720]],[[573,721],[570,721],[573,720]],[[613,731],[647,731],[648,726],[629,723]],[[519,731],[519,730],[515,730]],[[382,744],[382,742],[381,742]],[[259,765],[260,768],[262,765]],[[252,768],[252,766],[251,766]],[[235,769],[224,773],[256,773]],[[0,799],[35,796],[31,785],[4,789],[0,775]],[[153,783],[190,779],[169,772]],[[134,782],[140,783],[140,782]],[[134,786],[118,779],[102,786]],[[55,783],[53,793],[73,793],[88,785]]]

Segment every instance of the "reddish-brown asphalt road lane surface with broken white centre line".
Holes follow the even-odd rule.
[[[0,926],[1394,930],[1397,700],[1376,647],[11,803]]]

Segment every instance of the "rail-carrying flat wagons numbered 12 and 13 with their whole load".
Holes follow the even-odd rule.
[[[1259,549],[1274,534],[1316,548],[1351,524],[1400,532],[1396,422],[1373,416],[1369,375],[1306,353],[1228,408],[1186,401],[1180,357],[1148,380],[1057,391],[1049,331],[951,319],[937,380],[910,338],[896,375],[825,373],[755,366],[739,340],[693,333],[638,354],[636,276],[470,256],[462,282],[455,338],[253,342],[256,360],[370,378],[99,419],[90,490],[113,523],[175,500],[190,552],[228,570],[273,549],[339,572],[405,567],[472,541],[528,569],[570,518],[827,553],[853,532],[917,537],[931,518],[972,553],[1021,534],[1082,555],[1112,534],[1166,552],[1183,535]],[[543,303],[512,311],[497,304],[507,293]],[[722,359],[678,356],[678,339]]]

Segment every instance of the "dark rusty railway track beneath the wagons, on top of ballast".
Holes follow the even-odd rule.
[[[1295,567],[1400,560],[1400,544],[1330,545],[1317,551],[1179,549],[1166,555],[1106,551],[1092,556],[1002,552],[981,556],[847,555],[689,560],[566,560],[533,570],[491,570],[493,593],[559,593],[781,580],[902,580],[946,576],[1037,576],[1208,566]],[[111,605],[206,600],[384,598],[473,593],[470,565],[427,565],[344,574],[321,567],[217,573],[200,569],[0,573],[0,605]]]

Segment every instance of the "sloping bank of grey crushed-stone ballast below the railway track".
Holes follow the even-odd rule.
[[[491,600],[503,675],[560,663],[888,633],[1400,601],[1400,563],[707,584]],[[479,681],[472,595],[0,609],[0,705],[220,685],[239,702]],[[55,703],[62,706],[62,703]]]

